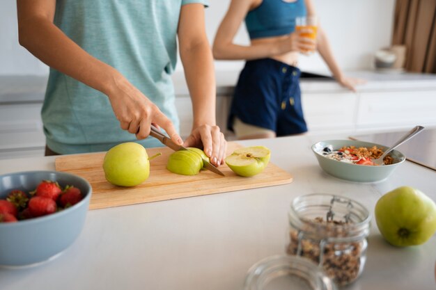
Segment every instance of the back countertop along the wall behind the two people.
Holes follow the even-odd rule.
[[[240,71],[217,71],[217,96],[229,96],[238,80]],[[365,79],[364,85],[357,87],[357,92],[380,90],[435,90],[436,74],[401,73],[389,74],[375,70],[347,72],[348,76]],[[13,102],[42,102],[48,76],[0,76],[0,104]],[[174,88],[177,96],[189,95],[183,72],[173,74]],[[332,79],[301,79],[302,92],[347,92]]]

